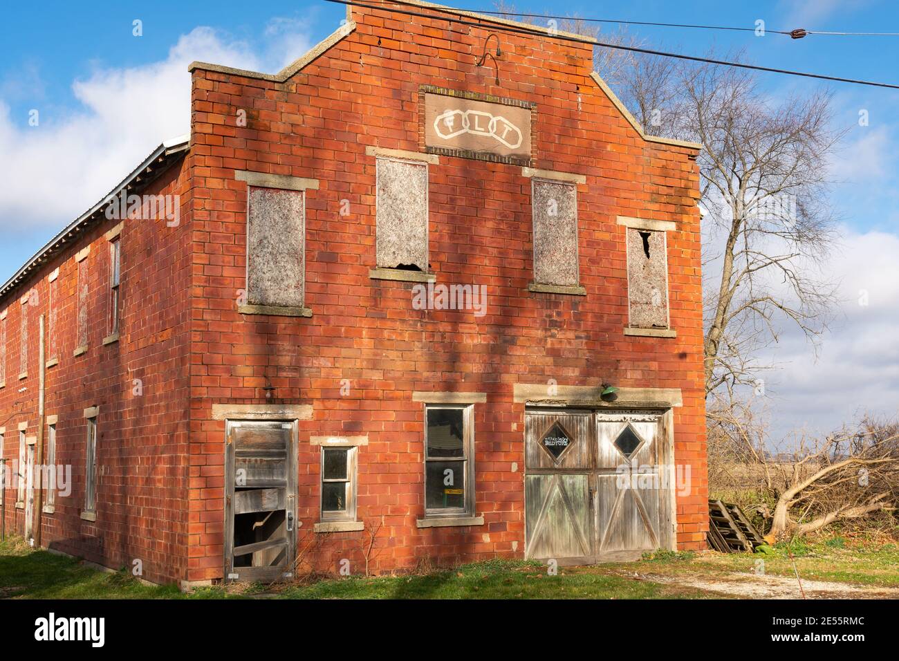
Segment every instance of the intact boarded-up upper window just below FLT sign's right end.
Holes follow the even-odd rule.
[[[578,285],[576,185],[535,178],[532,207],[534,281]]]

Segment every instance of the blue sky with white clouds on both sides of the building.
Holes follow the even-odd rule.
[[[899,3],[518,0],[518,11],[633,21],[696,22],[769,30],[899,31]],[[494,9],[488,0],[458,0]],[[192,59],[276,71],[343,19],[316,2],[49,2],[4,5],[0,22],[0,281],[58,229],[98,201],[163,139],[186,130]],[[133,21],[143,35],[132,34]],[[613,31],[606,25],[603,30]],[[743,49],[755,64],[899,83],[899,37],[812,35],[632,26],[649,47],[702,55]],[[761,75],[773,98],[818,83]],[[899,91],[832,84],[836,123],[849,129],[832,163],[843,242],[832,260],[845,282],[844,313],[817,360],[785,330],[771,348],[784,364],[766,400],[779,433],[831,427],[861,410],[895,415],[899,403]],[[30,112],[38,111],[38,126]],[[868,126],[859,126],[859,111]],[[869,294],[859,306],[859,291]],[[844,396],[846,385],[853,392]]]

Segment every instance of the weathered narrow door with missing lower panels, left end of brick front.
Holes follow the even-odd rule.
[[[228,420],[225,578],[291,575],[296,554],[297,424]]]

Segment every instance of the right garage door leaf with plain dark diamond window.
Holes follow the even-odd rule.
[[[663,412],[596,414],[597,559],[670,548]]]

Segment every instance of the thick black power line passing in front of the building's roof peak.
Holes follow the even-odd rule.
[[[410,6],[403,2],[403,0],[388,0],[389,2],[393,2],[396,4],[405,4],[406,6]],[[446,22],[454,22],[459,25],[470,25],[476,28],[485,28],[488,27],[484,22],[473,22],[473,21],[465,21],[463,19],[454,18],[452,16],[440,15],[435,16],[431,13],[422,13],[422,12],[412,12],[404,9],[396,9],[395,7],[387,7],[384,4],[366,4],[360,2],[359,0],[325,0],[325,2],[336,3],[336,4],[351,4],[352,6],[364,7],[366,9],[376,9],[384,12],[393,12],[393,13],[402,13],[407,16],[418,16],[420,18],[431,19],[432,21],[446,21]],[[419,6],[417,4],[412,4],[411,6]],[[441,8],[434,7],[432,11],[439,12]],[[490,21],[489,18],[486,19]],[[817,80],[829,80],[835,83],[850,83],[852,85],[870,85],[873,87],[886,87],[888,89],[899,90],[899,85],[892,85],[890,83],[877,83],[869,80],[858,80],[856,78],[842,78],[840,76],[825,76],[823,74],[810,74],[805,71],[792,71],[790,69],[779,69],[774,67],[761,67],[758,65],[752,64],[743,64],[742,62],[729,62],[724,59],[710,59],[710,58],[699,58],[693,55],[681,55],[680,53],[669,53],[663,50],[653,50],[653,49],[641,49],[636,46],[624,46],[623,44],[612,44],[606,43],[604,41],[593,39],[592,37],[573,37],[565,34],[547,34],[545,30],[541,30],[539,28],[528,28],[526,26],[519,25],[507,25],[503,22],[490,22],[489,28],[495,31],[505,31],[512,32],[517,34],[529,34],[529,35],[539,35],[541,37],[548,37],[550,39],[557,39],[562,41],[573,41],[574,43],[585,43],[592,44],[593,46],[600,46],[602,48],[607,49],[615,49],[615,50],[628,50],[634,53],[644,53],[646,55],[657,55],[662,58],[676,58],[676,59],[686,59],[691,62],[704,62],[706,64],[714,64],[722,67],[735,67],[741,69],[750,69],[752,71],[764,71],[770,74],[785,74],[787,76],[802,76],[806,78],[815,78]]]

